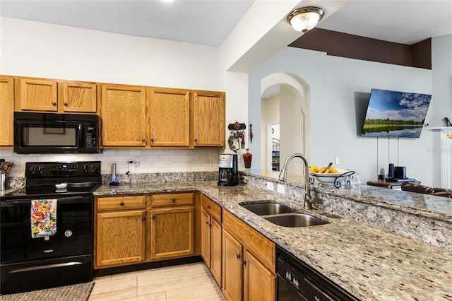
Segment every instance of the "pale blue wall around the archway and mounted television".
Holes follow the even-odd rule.
[[[444,41],[434,39],[434,55],[438,52],[436,47],[447,52],[450,48],[444,49],[444,46],[451,40],[452,36],[444,37]],[[387,173],[388,163],[394,163],[406,166],[408,177],[426,185],[439,186],[439,173],[436,172],[439,153],[434,145],[433,131],[423,130],[419,139],[379,139],[378,143],[376,138],[359,135],[371,88],[433,93],[426,122],[431,126],[441,126],[439,118],[444,117],[444,109],[451,112],[451,52],[447,53],[442,56],[448,56],[444,67],[447,69],[444,73],[448,75],[441,73],[438,77],[448,80],[448,91],[437,97],[432,78],[435,79],[438,72],[436,64],[444,64],[444,60],[438,57],[434,59],[433,70],[426,70],[331,57],[323,52],[287,47],[249,74],[249,122],[258,124],[260,118],[261,79],[276,72],[294,73],[311,87],[311,165],[323,166],[339,157],[340,165],[337,167],[355,170],[362,182],[367,182],[376,180],[382,167]],[[255,136],[260,135],[256,133]],[[259,156],[258,143],[256,141],[250,147],[250,152],[256,157]],[[259,157],[257,161],[260,162]]]

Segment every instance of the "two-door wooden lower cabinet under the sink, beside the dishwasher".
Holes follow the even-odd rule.
[[[227,211],[222,264],[227,300],[276,300],[275,244]]]

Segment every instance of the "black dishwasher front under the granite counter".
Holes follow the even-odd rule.
[[[276,259],[278,301],[359,300],[279,246]]]

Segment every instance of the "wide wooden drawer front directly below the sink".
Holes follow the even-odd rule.
[[[275,243],[246,225],[229,211],[223,212],[223,229],[233,234],[266,268],[275,273]]]

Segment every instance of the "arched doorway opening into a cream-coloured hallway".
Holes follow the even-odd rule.
[[[276,162],[282,167],[291,153],[309,158],[309,85],[295,74],[273,73],[261,80],[261,168],[278,171]],[[303,170],[295,164],[289,172],[302,175]]]

